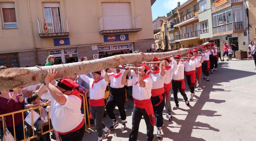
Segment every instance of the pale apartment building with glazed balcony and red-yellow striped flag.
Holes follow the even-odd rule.
[[[200,38],[215,42],[221,47],[223,47],[224,42],[228,45],[236,43],[237,49],[247,50],[249,36],[246,28],[248,17],[245,13],[245,2],[243,0],[198,1],[203,4],[203,12],[199,14],[199,21],[202,24]],[[210,3],[211,7],[209,7]],[[211,11],[211,18],[209,11]]]

